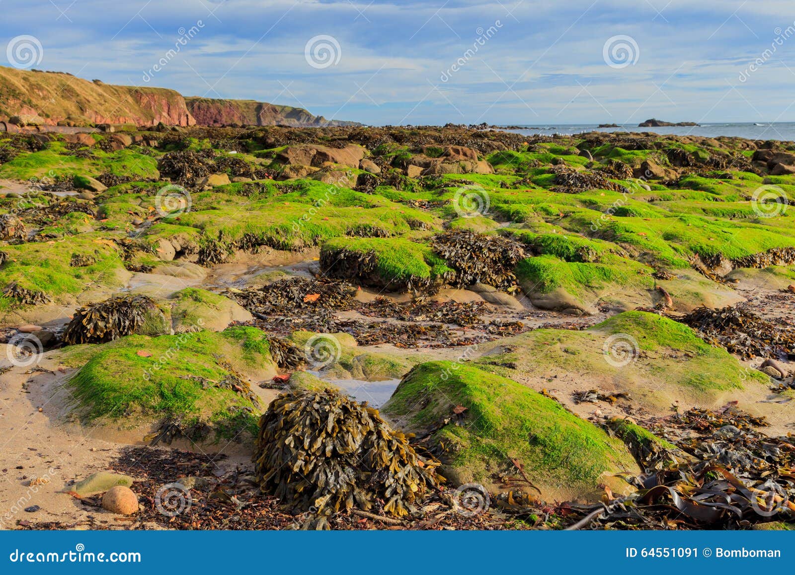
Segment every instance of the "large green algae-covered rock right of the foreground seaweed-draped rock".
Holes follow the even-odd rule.
[[[431,433],[442,472],[457,484],[517,475],[515,460],[546,499],[580,498],[598,496],[611,473],[637,469],[625,445],[603,429],[467,363],[421,363],[382,411],[406,431]]]

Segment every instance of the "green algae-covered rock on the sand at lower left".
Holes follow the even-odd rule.
[[[276,375],[266,334],[247,327],[126,336],[59,354],[64,364],[81,366],[67,386],[76,398],[72,415],[82,421],[180,422],[230,439],[254,433],[260,409],[252,384]]]

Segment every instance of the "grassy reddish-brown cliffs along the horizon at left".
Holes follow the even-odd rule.
[[[63,72],[0,66],[0,120],[14,117],[29,123],[73,126],[99,123],[153,126],[160,122],[169,126],[355,124],[327,122],[303,108],[253,100],[184,98],[167,88],[114,86]]]

